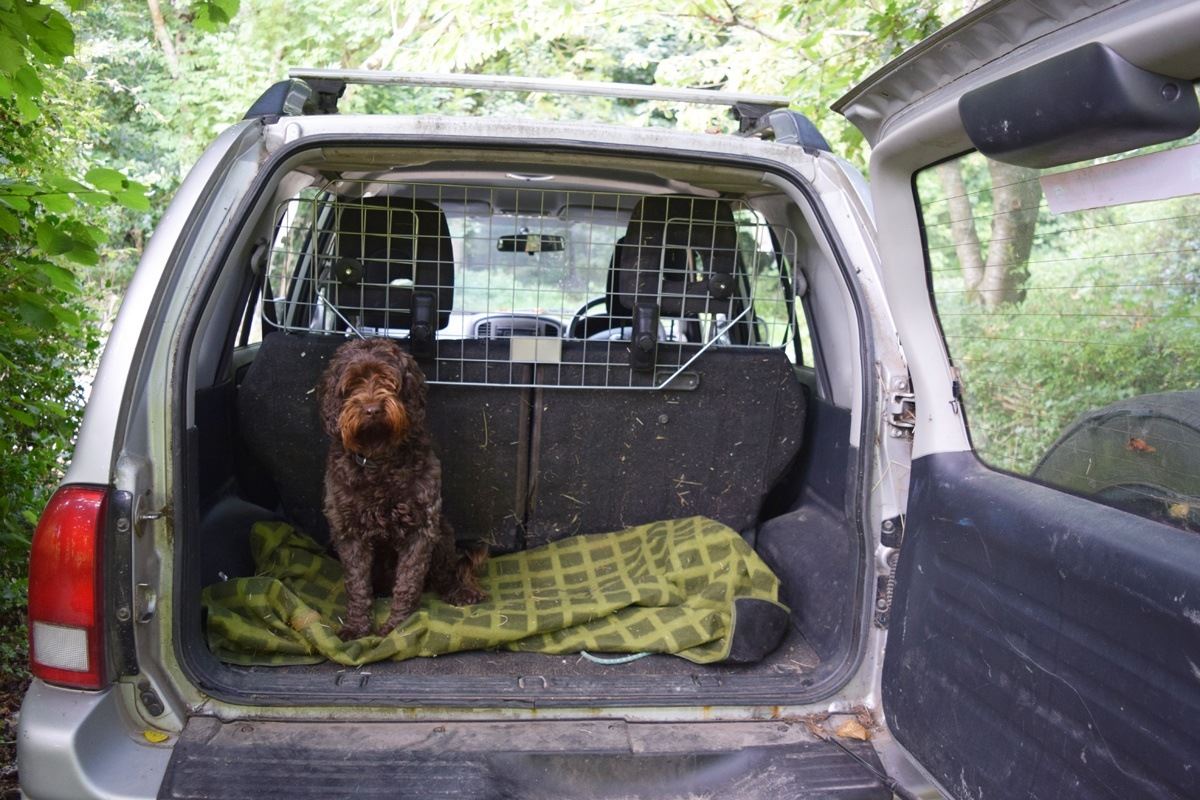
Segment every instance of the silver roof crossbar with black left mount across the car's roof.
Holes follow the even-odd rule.
[[[263,94],[247,112],[252,116],[283,116],[301,114],[335,114],[337,101],[346,86],[437,86],[444,89],[481,89],[485,91],[540,91],[556,95],[586,95],[622,100],[658,100],[707,106],[754,106],[775,109],[787,106],[781,95],[751,95],[716,91],[713,89],[671,89],[631,83],[601,80],[571,80],[564,78],[520,78],[515,76],[476,76],[434,72],[386,72],[379,70],[312,70],[288,71],[290,80],[282,80]],[[306,97],[300,97],[308,89]]]

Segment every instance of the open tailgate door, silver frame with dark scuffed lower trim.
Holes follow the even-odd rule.
[[[920,235],[914,173],[971,149],[959,97],[1093,41],[1195,78],[1200,6],[990,4],[839,102],[874,145],[883,285],[918,413],[883,711],[956,798],[1198,792],[1200,541],[976,458]]]

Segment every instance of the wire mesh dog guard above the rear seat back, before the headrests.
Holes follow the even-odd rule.
[[[280,203],[264,320],[403,337],[431,383],[662,389],[796,347],[796,235],[737,199],[338,180]]]

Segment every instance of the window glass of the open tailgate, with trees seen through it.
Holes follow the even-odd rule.
[[[1200,145],[922,172],[930,288],[990,465],[1200,531]]]

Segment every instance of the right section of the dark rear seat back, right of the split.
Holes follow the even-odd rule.
[[[563,349],[569,363],[550,367],[563,384],[584,385],[583,363],[612,357],[582,342]],[[683,349],[686,359],[696,347]],[[536,391],[527,546],[692,515],[756,523],[802,444],[791,362],[775,349],[710,348],[673,383],[695,389]]]

